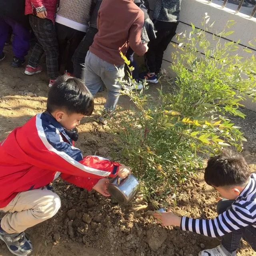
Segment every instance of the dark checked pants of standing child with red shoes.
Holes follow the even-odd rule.
[[[37,42],[32,50],[28,64],[34,68],[39,66],[43,53],[46,55],[46,66],[50,80],[58,77],[58,41],[56,28],[51,20],[41,19],[30,14],[30,26],[37,38]]]

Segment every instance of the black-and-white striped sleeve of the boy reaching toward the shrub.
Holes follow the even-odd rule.
[[[183,216],[180,228],[204,236],[219,237],[234,230],[252,225],[255,223],[255,219],[256,215],[252,216],[249,210],[241,206],[232,206],[230,210],[210,220],[200,220]]]

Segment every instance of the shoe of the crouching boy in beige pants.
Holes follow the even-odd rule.
[[[14,255],[28,256],[33,252],[32,244],[24,232],[8,234],[0,227],[0,239],[6,243],[7,248]]]

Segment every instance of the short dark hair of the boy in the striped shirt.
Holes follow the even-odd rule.
[[[214,187],[243,185],[248,182],[250,169],[246,160],[232,151],[225,151],[208,160],[205,182]]]

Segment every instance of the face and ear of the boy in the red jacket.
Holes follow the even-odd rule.
[[[74,129],[77,125],[80,124],[81,119],[84,117],[82,114],[67,114],[64,111],[54,112],[53,116],[67,130]]]

